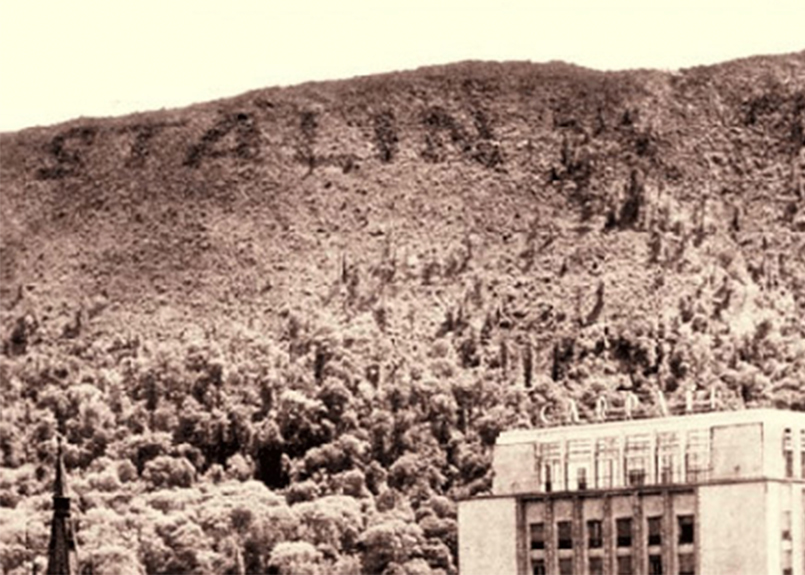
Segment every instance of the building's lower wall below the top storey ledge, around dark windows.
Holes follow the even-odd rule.
[[[695,517],[695,543],[681,545],[678,519]],[[534,561],[557,572],[573,558],[574,573],[586,573],[590,557],[602,557],[607,573],[617,557],[630,555],[635,573],[649,573],[649,557],[661,554],[663,573],[677,573],[680,554],[694,554],[697,573],[706,575],[803,573],[805,501],[800,483],[756,481],[700,485],[690,491],[635,490],[632,493],[553,494],[541,498],[474,499],[459,506],[459,567],[462,575],[530,573]],[[616,522],[633,521],[630,548],[616,545]],[[660,547],[648,545],[648,521],[662,518]],[[604,545],[587,546],[587,521],[604,523]],[[573,524],[572,550],[558,550],[557,524]],[[529,546],[529,526],[543,523],[545,548]]]

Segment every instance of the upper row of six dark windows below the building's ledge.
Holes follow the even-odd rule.
[[[695,540],[693,515],[677,516],[677,543],[691,545]],[[604,546],[603,521],[590,519],[586,523],[586,540],[588,549],[600,549]],[[545,523],[532,523],[529,526],[531,549],[545,549],[546,541]],[[556,522],[556,548],[573,549],[573,523],[570,521]],[[615,520],[615,546],[631,547],[634,526],[631,517],[620,517]],[[649,547],[662,545],[662,517],[648,517],[646,519],[646,543]]]

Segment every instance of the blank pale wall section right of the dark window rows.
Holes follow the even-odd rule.
[[[769,542],[768,517],[779,513],[779,504],[775,505],[774,499],[768,497],[767,484],[760,481],[700,486],[697,490],[699,572],[780,573],[779,553],[770,553]],[[774,542],[778,540],[779,535]]]

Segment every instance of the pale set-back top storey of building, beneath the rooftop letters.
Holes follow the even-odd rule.
[[[788,444],[792,457],[788,466],[783,457],[785,430],[790,430],[791,438]],[[508,495],[547,491],[545,478],[549,476],[546,473],[549,467],[551,491],[583,490],[579,489],[578,479],[582,467],[586,470],[588,490],[634,483],[798,479],[803,477],[803,433],[805,414],[776,410],[715,412],[506,432],[495,446],[493,492]],[[610,441],[611,449],[607,447]],[[640,451],[641,441],[645,441],[646,451]],[[586,451],[579,451],[579,445],[585,442]],[[610,458],[608,453],[614,456]],[[645,459],[639,457],[640,453],[645,453]],[[793,467],[790,476],[789,467]],[[642,479],[633,477],[633,468],[644,469]],[[611,482],[604,476],[611,477]]]

